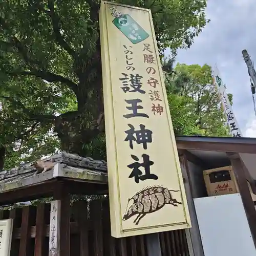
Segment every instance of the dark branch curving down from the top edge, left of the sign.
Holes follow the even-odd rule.
[[[60,33],[60,27],[59,27],[60,18],[55,12],[54,2],[55,2],[54,0],[48,0],[48,8],[50,10],[49,15],[52,20],[52,27],[56,36],[56,40],[59,46],[65,49],[73,58],[76,58],[77,57],[76,52],[67,44],[67,42],[64,40],[63,36]]]

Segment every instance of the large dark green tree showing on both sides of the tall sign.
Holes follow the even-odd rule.
[[[113,2],[152,10],[161,56],[190,47],[208,22],[206,0]],[[7,167],[58,148],[102,157],[99,3],[0,3],[0,159],[5,152]]]

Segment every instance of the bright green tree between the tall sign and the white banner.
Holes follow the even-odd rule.
[[[177,63],[166,86],[176,134],[229,136],[210,66]]]

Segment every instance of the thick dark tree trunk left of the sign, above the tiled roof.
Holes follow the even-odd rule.
[[[59,116],[55,131],[61,141],[61,150],[83,157],[96,157],[93,140],[104,131],[104,108],[100,58],[91,63],[87,72],[79,75],[78,110]],[[97,63],[98,62],[98,63]]]

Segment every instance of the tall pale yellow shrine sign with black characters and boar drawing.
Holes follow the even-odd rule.
[[[113,237],[190,227],[150,10],[101,2]]]

